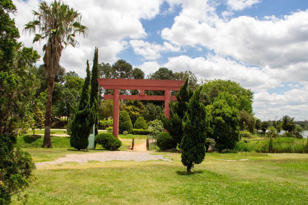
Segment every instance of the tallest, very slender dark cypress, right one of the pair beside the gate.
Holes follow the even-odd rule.
[[[91,93],[90,106],[94,109],[94,118],[91,120],[92,126],[95,124],[95,136],[98,134],[98,119],[99,119],[99,85],[97,78],[99,78],[99,63],[98,63],[98,48],[95,47],[91,77]]]

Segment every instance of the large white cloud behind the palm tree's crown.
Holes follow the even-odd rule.
[[[16,26],[22,31],[24,25],[33,19],[31,10],[38,9],[38,0],[15,0],[18,13]],[[95,1],[67,0],[69,6],[82,14],[82,24],[89,28],[86,38],[78,37],[78,49],[67,47],[61,57],[61,65],[85,75],[85,63],[93,59],[94,47],[99,47],[100,62],[115,62],[117,54],[125,49],[127,38],[146,37],[147,34],[140,19],[152,19],[159,14],[161,0],[143,1]],[[22,35],[25,46],[33,46],[43,56],[43,43],[32,44],[33,36]]]

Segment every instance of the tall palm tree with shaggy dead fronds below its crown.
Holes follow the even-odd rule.
[[[59,61],[62,50],[71,45],[75,47],[79,43],[76,34],[87,33],[87,27],[80,24],[81,14],[74,8],[59,1],[53,1],[48,5],[45,1],[39,3],[39,10],[34,11],[34,20],[25,25],[24,31],[35,34],[33,43],[46,40],[43,45],[44,67],[48,79],[48,97],[45,115],[45,133],[42,147],[52,147],[50,139],[51,126],[51,97],[54,87],[54,76],[59,71]]]

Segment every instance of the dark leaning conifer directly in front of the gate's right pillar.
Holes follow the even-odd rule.
[[[161,114],[160,118],[164,124],[164,128],[168,130],[172,139],[180,144],[183,137],[182,120],[185,112],[187,111],[186,103],[192,97],[193,91],[188,87],[188,78],[185,83],[180,87],[180,91],[176,94],[176,102],[170,102],[170,120]]]

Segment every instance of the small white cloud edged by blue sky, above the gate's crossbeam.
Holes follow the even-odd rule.
[[[179,46],[173,46],[168,42],[164,42],[163,45],[144,42],[142,40],[130,40],[130,45],[134,49],[137,55],[142,55],[146,60],[155,60],[161,57],[161,52],[179,52],[181,48]]]

